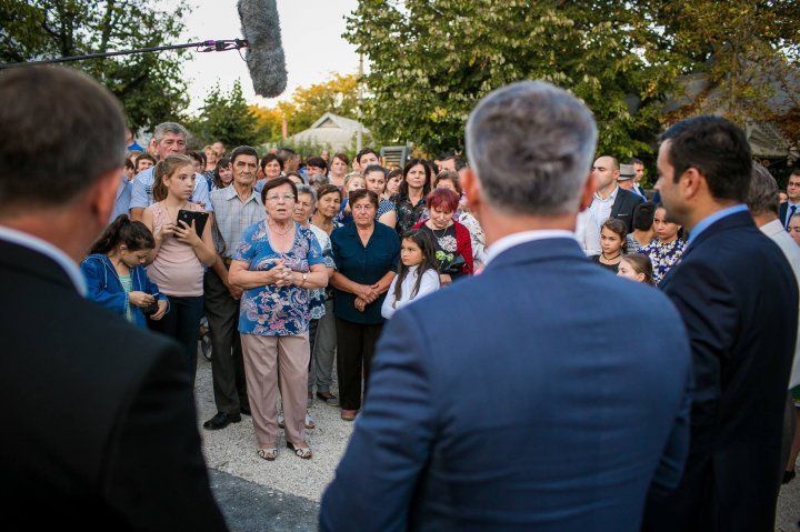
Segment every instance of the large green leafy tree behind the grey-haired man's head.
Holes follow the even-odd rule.
[[[670,74],[646,49],[652,33],[637,2],[362,0],[344,37],[370,60],[368,126],[380,138],[462,149],[478,100],[543,79],[592,109],[601,151],[631,157],[650,150]]]

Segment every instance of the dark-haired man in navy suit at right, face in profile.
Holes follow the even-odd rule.
[[[648,501],[646,530],[773,530],[781,430],[798,327],[798,285],[744,201],[743,131],[696,117],[662,135],[668,215],[691,237],[660,287],[692,345],[691,448],[679,488]]]

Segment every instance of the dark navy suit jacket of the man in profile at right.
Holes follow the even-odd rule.
[[[701,232],[660,288],[686,322],[697,385],[683,479],[650,498],[644,529],[771,531],[798,323],[791,267],[739,212]]]

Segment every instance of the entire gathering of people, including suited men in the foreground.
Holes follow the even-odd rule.
[[[54,500],[36,519],[93,505],[110,528],[224,530],[191,400],[204,317],[206,430],[249,415],[258,456],[279,456],[283,429],[309,460],[311,401],[358,418],[322,530],[771,528],[800,453],[800,171],[780,203],[727,120],[662,134],[650,198],[641,161],[597,157],[589,110],[544,82],[481,100],[469,164],[191,152],[166,122],[147,150],[128,131],[122,172],[121,110],[97,83],[34,68],[0,90],[14,97],[0,157],[28,179],[0,173],[0,294],[63,317],[48,335],[2,324],[26,350],[3,360],[4,397],[38,390],[53,425],[12,414],[7,510]],[[46,114],[58,145],[31,126]],[[69,363],[53,355],[68,337]],[[63,482],[78,458],[90,474]]]

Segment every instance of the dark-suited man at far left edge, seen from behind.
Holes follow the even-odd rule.
[[[4,528],[227,530],[179,347],[82,297],[122,171],[119,103],[63,68],[6,72],[0,94]]]

